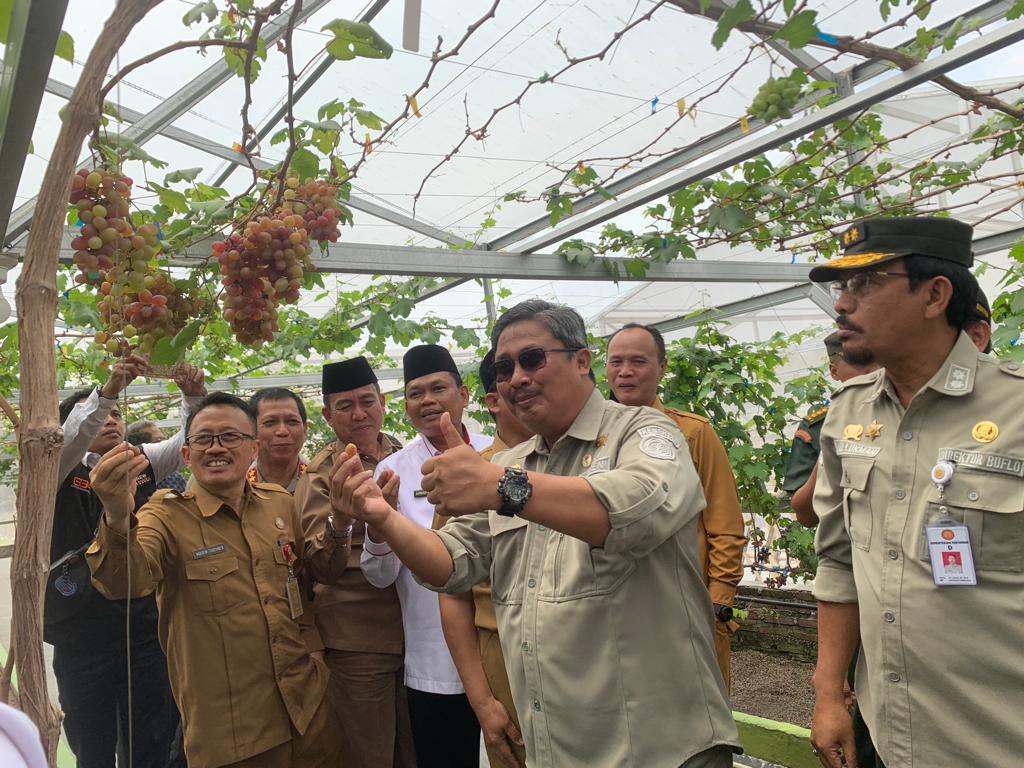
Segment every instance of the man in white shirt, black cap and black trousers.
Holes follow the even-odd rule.
[[[398,512],[424,528],[434,519],[434,505],[420,487],[423,463],[446,446],[441,416],[447,414],[466,444],[482,451],[490,439],[470,434],[462,424],[469,390],[452,354],[437,344],[421,344],[402,358],[406,414],[419,436],[377,465],[379,483],[397,475]],[[368,529],[362,572],[378,587],[396,585],[406,628],[406,687],[413,724],[416,759],[421,768],[475,768],[479,763],[480,727],[466,696],[444,635],[437,595],[417,584],[412,572]]]

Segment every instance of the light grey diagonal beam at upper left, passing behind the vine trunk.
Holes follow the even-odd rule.
[[[308,0],[299,12],[297,24],[302,24],[313,13],[327,5],[329,0]],[[46,5],[45,3],[36,3]],[[272,47],[288,30],[291,18],[290,13],[285,13],[263,28],[260,37],[267,47]],[[193,78],[193,80],[164,99],[159,106],[143,115],[131,128],[124,131],[124,138],[135,142],[138,145],[144,144],[154,136],[171,125],[175,120],[184,115],[204,98],[213,93],[217,88],[226,83],[232,77],[227,62],[223,58],[208,67],[203,73]],[[32,218],[36,210],[36,198],[18,206],[11,215],[10,231],[7,241],[24,232],[32,225]]]

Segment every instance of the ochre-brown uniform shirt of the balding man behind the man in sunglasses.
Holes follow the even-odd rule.
[[[732,605],[736,586],[743,578],[746,536],[729,455],[705,417],[666,408],[660,398],[654,400],[654,408],[676,422],[690,449],[690,458],[708,501],[697,518],[700,573],[711,592],[712,602]]]

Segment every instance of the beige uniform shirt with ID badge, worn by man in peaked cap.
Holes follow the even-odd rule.
[[[955,465],[943,499],[940,460]],[[821,431],[814,511],[814,594],[859,604],[857,697],[883,761],[1021,765],[1024,367],[961,334],[906,410],[884,371],[847,382]],[[925,525],[945,518],[970,529],[976,587],[935,586]]]

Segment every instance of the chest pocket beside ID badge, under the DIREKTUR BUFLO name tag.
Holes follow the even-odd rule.
[[[963,522],[971,532],[975,566],[981,570],[1024,571],[1024,480],[992,473],[957,472],[939,501],[928,497],[928,520]],[[928,559],[924,541],[921,556]]]

